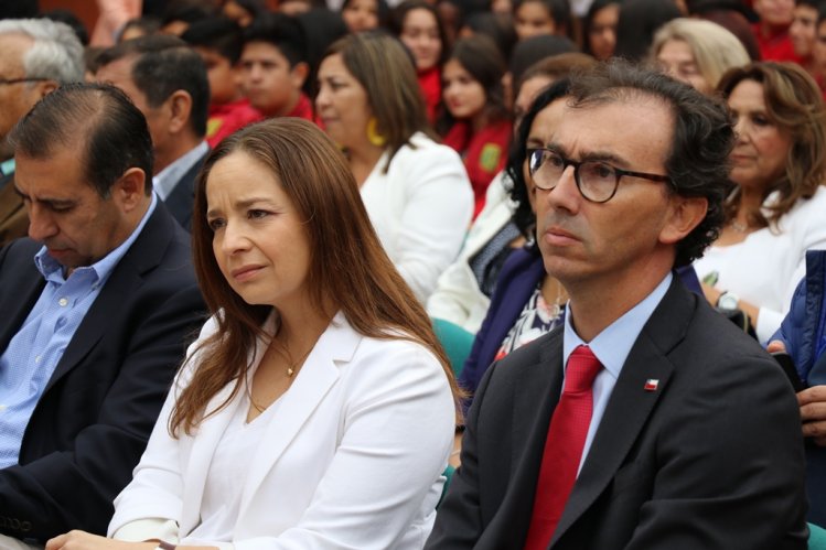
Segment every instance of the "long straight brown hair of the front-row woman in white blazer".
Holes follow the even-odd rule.
[[[213,254],[206,184],[215,163],[238,151],[272,171],[304,219],[311,251],[308,287],[314,305],[323,310],[332,303],[365,336],[420,343],[439,358],[453,395],[459,396],[430,320],[382,248],[343,154],[314,125],[285,117],[226,138],[210,153],[199,175],[192,223],[195,273],[218,328],[200,344],[199,365],[178,397],[170,433],[178,435],[181,427],[191,433],[237,395],[250,368],[256,337],[262,335],[261,325],[272,311],[236,294]],[[232,395],[206,411],[210,399],[228,384],[235,384]]]

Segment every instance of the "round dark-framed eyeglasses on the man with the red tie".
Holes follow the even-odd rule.
[[[528,172],[537,188],[551,191],[559,183],[565,170],[573,166],[573,181],[577,182],[579,193],[592,203],[609,202],[616,194],[620,177],[624,175],[653,182],[667,182],[673,185],[667,175],[622,170],[603,161],[576,162],[549,149],[528,149],[527,153]]]

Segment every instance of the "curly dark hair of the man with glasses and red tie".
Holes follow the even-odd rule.
[[[689,265],[715,241],[726,218],[723,198],[731,191],[729,153],[734,130],[726,105],[690,86],[616,60],[571,79],[571,106],[589,108],[634,98],[663,101],[674,117],[674,137],[665,170],[680,196],[708,199],[702,222],[677,242],[675,267]]]

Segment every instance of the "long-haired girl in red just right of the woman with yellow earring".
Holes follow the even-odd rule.
[[[459,40],[442,68],[444,109],[437,129],[462,157],[473,185],[473,217],[507,158],[513,130],[502,87],[505,71],[505,60],[487,36]]]

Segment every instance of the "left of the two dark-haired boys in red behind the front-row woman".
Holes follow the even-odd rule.
[[[240,28],[230,19],[210,18],[192,23],[181,37],[206,65],[210,80],[206,142],[210,147],[214,148],[235,130],[261,120],[261,114],[249,105],[240,88],[238,62],[244,48]]]

